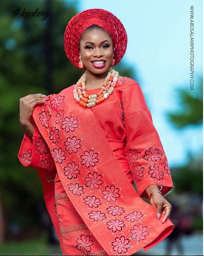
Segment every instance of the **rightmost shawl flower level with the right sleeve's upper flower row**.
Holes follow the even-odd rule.
[[[93,148],[90,150],[84,150],[83,155],[80,155],[82,159],[81,164],[85,165],[86,168],[95,167],[95,164],[99,162],[98,159],[99,153],[95,153]]]

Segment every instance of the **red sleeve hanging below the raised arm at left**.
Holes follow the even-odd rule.
[[[22,165],[31,168],[55,169],[50,149],[37,127],[34,127],[32,139],[25,133],[19,149],[18,159]]]

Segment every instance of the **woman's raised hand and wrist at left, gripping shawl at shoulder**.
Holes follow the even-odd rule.
[[[20,123],[31,138],[34,134],[34,126],[31,123],[33,109],[37,104],[42,104],[45,97],[46,95],[42,94],[30,94],[20,99]]]

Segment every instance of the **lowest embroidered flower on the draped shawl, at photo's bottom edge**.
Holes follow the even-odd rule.
[[[116,251],[117,254],[127,253],[128,249],[131,247],[130,239],[125,238],[124,235],[120,237],[115,237],[115,240],[111,242],[112,251]]]

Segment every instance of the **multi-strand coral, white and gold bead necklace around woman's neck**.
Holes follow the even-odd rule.
[[[84,108],[92,108],[96,104],[100,104],[113,93],[118,81],[119,73],[110,67],[109,72],[102,83],[102,88],[97,94],[88,95],[86,93],[86,72],[81,76],[74,87],[74,98]]]

